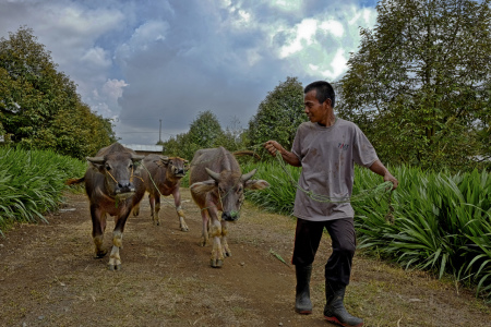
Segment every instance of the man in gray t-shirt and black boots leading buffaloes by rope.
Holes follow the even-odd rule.
[[[393,190],[398,181],[379,160],[361,130],[352,122],[336,118],[335,94],[330,83],[314,82],[303,93],[310,122],[298,128],[292,150],[286,150],[276,141],[264,145],[271,155],[278,152],[289,165],[302,167],[299,185],[308,191],[297,192],[294,208],[298,218],[292,256],[297,277],[295,310],[300,314],[312,313],[310,276],[325,227],[332,239],[333,254],[325,265],[324,317],[342,326],[362,326],[363,320],[350,315],[343,304],[356,249],[355,211],[346,201],[351,196],[354,162],[391,181]],[[331,201],[315,201],[309,193]]]

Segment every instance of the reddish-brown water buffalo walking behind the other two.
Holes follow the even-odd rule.
[[[148,155],[143,159],[142,178],[145,189],[149,193],[148,199],[152,210],[152,220],[155,225],[160,225],[158,211],[160,210],[160,195],[172,194],[176,211],[179,217],[181,231],[189,231],[184,221],[184,211],[181,207],[181,193],[179,186],[181,179],[188,171],[189,161],[179,157],[167,157],[159,155]],[[133,209],[135,216],[139,215],[139,206]]]

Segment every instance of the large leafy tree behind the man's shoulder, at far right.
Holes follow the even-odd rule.
[[[423,168],[491,157],[490,0],[382,0],[336,84],[338,111],[381,159]]]

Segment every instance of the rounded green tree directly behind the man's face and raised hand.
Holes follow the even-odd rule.
[[[302,84],[297,77],[287,77],[267,94],[260,104],[258,113],[249,121],[250,147],[275,140],[285,148],[290,148],[297,128],[306,119]]]

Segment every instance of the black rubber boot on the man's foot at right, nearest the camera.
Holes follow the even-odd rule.
[[[345,300],[346,286],[325,282],[325,300],[324,318],[327,322],[345,327],[361,327],[363,319],[351,316],[343,304]]]

